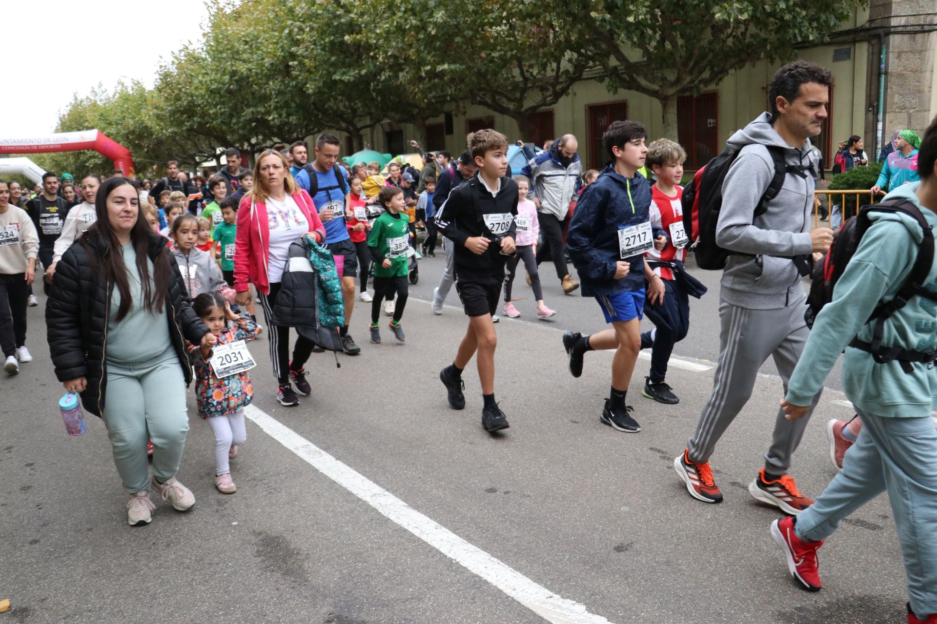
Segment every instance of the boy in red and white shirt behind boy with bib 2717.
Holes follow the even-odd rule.
[[[683,227],[680,204],[683,187],[679,184],[686,159],[683,148],[666,138],[647,147],[645,165],[657,176],[651,187],[650,224],[655,231],[661,228],[666,233],[667,244],[660,251],[654,248],[645,254],[648,266],[661,277],[666,290],[659,301],[648,299],[645,302],[645,314],[656,327],[641,335],[641,348],[651,349],[650,375],[645,378],[642,394],[669,405],[678,403],[679,399],[664,383],[667,361],[674,344],[686,338],[690,329],[689,296],[700,297],[706,292],[706,288],[683,268],[690,241]]]

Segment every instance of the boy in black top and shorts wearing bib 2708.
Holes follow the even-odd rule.
[[[468,315],[468,331],[451,366],[439,372],[449,405],[465,407],[462,370],[478,351],[482,382],[482,427],[508,428],[508,420],[495,402],[495,347],[498,337],[491,320],[498,309],[504,264],[514,253],[517,183],[506,177],[508,140],[486,129],[468,135],[468,151],[479,173],[449,194],[436,215],[443,236],[454,242],[455,290]]]

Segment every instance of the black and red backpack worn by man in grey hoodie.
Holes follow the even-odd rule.
[[[784,177],[788,173],[795,173],[806,178],[807,174],[804,172],[812,171],[810,166],[788,165],[784,160],[783,148],[766,147],[774,160],[774,177],[768,184],[765,194],[758,200],[752,218],[765,213],[767,202],[781,192]],[[683,206],[683,227],[690,236],[691,242],[695,242],[693,254],[699,268],[721,270],[725,268],[725,261],[730,255],[751,255],[732,252],[716,244],[716,225],[719,223],[719,213],[722,209],[722,182],[725,181],[729,167],[736,162],[738,152],[740,150],[733,147],[725,148],[721,154],[699,169],[693,175],[692,181],[683,188],[683,197],[680,200]],[[793,260],[801,275],[807,275],[810,272],[809,256],[782,257]]]

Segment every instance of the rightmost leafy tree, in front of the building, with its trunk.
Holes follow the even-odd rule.
[[[586,54],[613,93],[661,102],[663,136],[677,140],[677,97],[698,94],[760,59],[788,61],[796,45],[825,40],[865,0],[573,1],[589,36]]]

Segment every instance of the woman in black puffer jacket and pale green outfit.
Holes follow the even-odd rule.
[[[100,416],[114,463],[130,493],[127,522],[147,524],[147,440],[153,441],[156,492],[178,511],[195,503],[175,479],[188,431],[186,385],[192,369],[184,339],[212,346],[215,337],[185,300],[165,240],[139,214],[126,178],[97,191],[97,222],[55,267],[46,323],[55,375]]]

